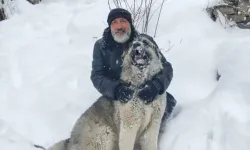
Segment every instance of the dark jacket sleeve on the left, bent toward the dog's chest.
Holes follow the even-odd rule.
[[[101,41],[94,45],[91,81],[94,87],[104,96],[115,99],[115,89],[120,83],[119,80],[111,80],[105,76],[104,57],[101,53]]]

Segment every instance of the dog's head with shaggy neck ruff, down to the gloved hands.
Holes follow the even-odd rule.
[[[160,50],[148,35],[135,38],[123,57],[121,79],[134,86],[150,80],[163,69]]]

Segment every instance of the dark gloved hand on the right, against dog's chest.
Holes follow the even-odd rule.
[[[147,81],[143,88],[138,92],[138,96],[146,104],[151,103],[155,100],[161,89],[161,83],[159,80]]]

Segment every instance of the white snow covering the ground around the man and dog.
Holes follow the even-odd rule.
[[[249,31],[213,22],[207,6],[168,0],[162,10],[155,40],[173,65],[168,91],[178,101],[164,150],[250,149]],[[47,148],[100,96],[92,51],[109,9],[105,0],[17,0],[15,9],[0,22],[0,149]]]

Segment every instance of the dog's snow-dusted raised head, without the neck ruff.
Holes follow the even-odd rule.
[[[146,68],[152,60],[159,59],[158,46],[147,35],[139,35],[130,45],[127,57],[131,64]]]

